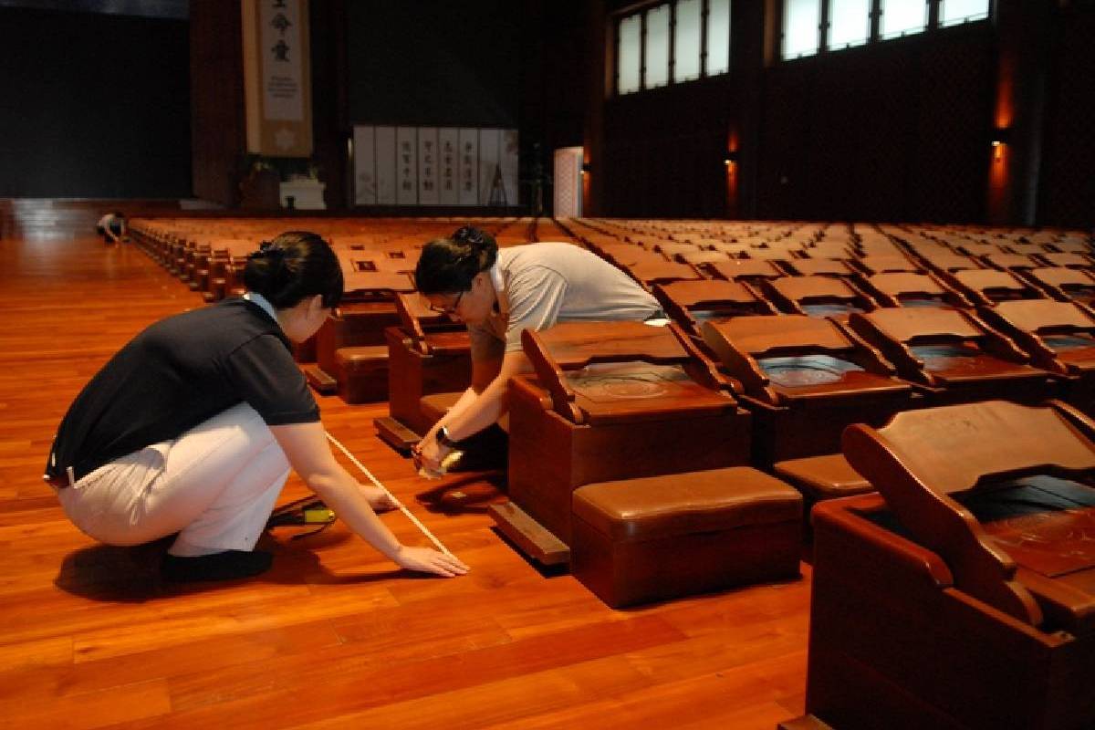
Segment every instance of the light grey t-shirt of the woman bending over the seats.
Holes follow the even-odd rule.
[[[476,360],[519,352],[525,329],[546,329],[557,322],[642,322],[661,311],[634,279],[569,243],[502,248],[489,274],[498,311],[483,324],[468,325]]]

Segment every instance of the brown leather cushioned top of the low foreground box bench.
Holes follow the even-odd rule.
[[[803,498],[748,466],[602,482],[574,493],[574,514],[613,542],[802,518]]]

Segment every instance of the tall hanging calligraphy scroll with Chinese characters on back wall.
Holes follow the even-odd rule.
[[[242,0],[247,151],[312,154],[308,0]]]

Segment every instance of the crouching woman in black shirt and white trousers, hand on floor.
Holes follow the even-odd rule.
[[[468,571],[401,545],[362,486],[331,453],[289,340],[323,324],[343,291],[338,259],[314,233],[283,233],[251,255],[243,299],[177,314],[137,335],[84,386],[46,465],[65,513],[111,545],[178,533],[173,580],[242,578],[269,567],[254,551],[290,466],[350,529],[404,568]]]

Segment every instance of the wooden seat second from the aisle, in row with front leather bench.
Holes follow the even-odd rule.
[[[881,424],[913,407],[913,389],[896,378],[894,366],[831,320],[708,321],[703,337],[745,389],[759,465],[834,453],[848,424]]]

